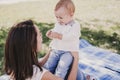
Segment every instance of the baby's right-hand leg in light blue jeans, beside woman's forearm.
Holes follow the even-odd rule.
[[[68,70],[70,69],[70,65],[72,64],[72,61],[73,61],[73,57],[71,53],[66,52],[62,54],[57,65],[55,75],[65,79],[65,76]]]

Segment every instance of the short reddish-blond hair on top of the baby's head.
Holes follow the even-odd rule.
[[[75,12],[75,5],[72,2],[72,0],[60,0],[55,7],[55,11],[57,11],[60,7],[66,8],[69,13],[74,13]]]

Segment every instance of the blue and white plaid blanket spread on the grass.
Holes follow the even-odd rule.
[[[80,40],[79,67],[97,80],[120,80],[120,55]]]

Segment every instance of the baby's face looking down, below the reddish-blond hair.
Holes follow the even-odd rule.
[[[67,24],[72,20],[72,15],[64,7],[60,7],[58,10],[56,10],[55,16],[57,21],[62,25]]]

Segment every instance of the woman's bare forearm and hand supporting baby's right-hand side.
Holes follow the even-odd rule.
[[[73,56],[73,64],[72,64],[70,74],[68,76],[68,80],[76,80],[77,71],[78,71],[79,55],[78,55],[78,52],[71,52],[71,54]]]

